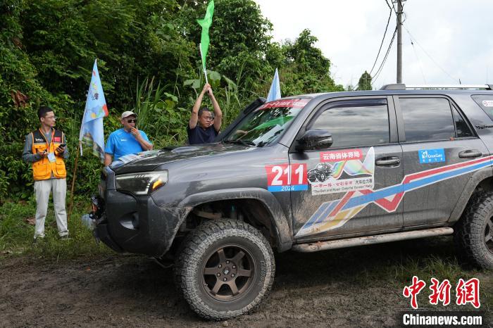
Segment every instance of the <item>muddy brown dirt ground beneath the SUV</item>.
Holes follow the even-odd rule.
[[[434,256],[453,258],[449,237],[277,254],[270,296],[256,312],[227,322],[194,315],[175,289],[172,270],[144,257],[58,264],[7,258],[0,262],[0,327],[392,327],[399,311],[410,309],[402,277],[411,275],[413,263]],[[477,277],[485,327],[493,327],[492,273]],[[422,294],[418,303],[426,305],[429,292]]]

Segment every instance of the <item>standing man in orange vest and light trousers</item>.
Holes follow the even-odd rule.
[[[65,134],[54,129],[56,116],[53,109],[42,106],[37,112],[41,127],[25,137],[23,160],[32,163],[35,179],[36,227],[35,241],[44,238],[44,219],[48,210],[49,194],[53,190],[58,235],[68,238],[65,195],[67,172],[63,159],[68,158]]]

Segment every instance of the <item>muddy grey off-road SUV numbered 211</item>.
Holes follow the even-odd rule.
[[[175,259],[201,317],[253,310],[277,252],[454,234],[493,267],[491,85],[257,99],[216,143],[113,162],[94,198],[96,238]],[[308,172],[330,164],[330,176]],[[329,165],[326,165],[327,167]]]

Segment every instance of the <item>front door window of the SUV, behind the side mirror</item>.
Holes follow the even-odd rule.
[[[310,129],[330,132],[333,140],[331,148],[389,142],[387,99],[337,101],[329,106],[316,118]]]

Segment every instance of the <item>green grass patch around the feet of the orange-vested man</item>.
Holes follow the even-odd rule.
[[[0,260],[9,256],[26,256],[32,259],[58,262],[75,258],[94,258],[113,253],[104,244],[96,244],[92,231],[82,225],[80,218],[89,213],[89,198],[77,198],[68,220],[70,239],[58,237],[53,202],[50,199],[48,215],[44,222],[45,237],[32,244],[35,226],[36,202],[7,201],[0,207]],[[68,210],[68,204],[67,204]]]

